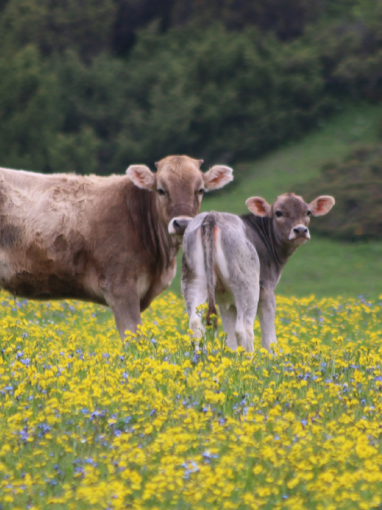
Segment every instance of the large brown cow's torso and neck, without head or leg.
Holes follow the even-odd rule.
[[[1,285],[28,298],[107,305],[108,287],[129,273],[144,310],[172,280],[178,251],[158,225],[154,199],[128,176],[0,169]],[[153,238],[144,235],[151,224]]]

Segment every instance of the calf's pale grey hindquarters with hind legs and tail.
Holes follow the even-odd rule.
[[[197,307],[208,302],[209,322],[216,301],[228,347],[253,351],[259,277],[257,252],[238,216],[212,211],[190,222],[183,238],[182,293],[195,336],[204,332]]]

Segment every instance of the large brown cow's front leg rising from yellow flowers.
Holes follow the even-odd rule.
[[[125,339],[126,331],[137,333],[138,324],[142,324],[137,285],[120,285],[117,289],[105,291],[104,295],[121,339]]]

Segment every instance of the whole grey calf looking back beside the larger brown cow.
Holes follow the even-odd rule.
[[[190,221],[183,239],[182,290],[195,336],[203,334],[197,307],[208,301],[208,322],[216,313],[216,299],[230,348],[253,351],[257,313],[262,346],[270,351],[277,342],[274,290],[282,269],[310,238],[309,215],[326,214],[334,199],[318,197],[306,204],[287,193],[272,205],[258,197],[249,198],[247,205],[253,215],[213,211]]]

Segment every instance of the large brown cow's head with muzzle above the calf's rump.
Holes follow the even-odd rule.
[[[156,174],[146,165],[131,165],[127,175],[139,188],[156,193],[158,214],[170,234],[183,235],[200,210],[205,191],[222,188],[233,180],[232,169],[215,165],[203,173],[202,159],[168,156],[156,163]]]

